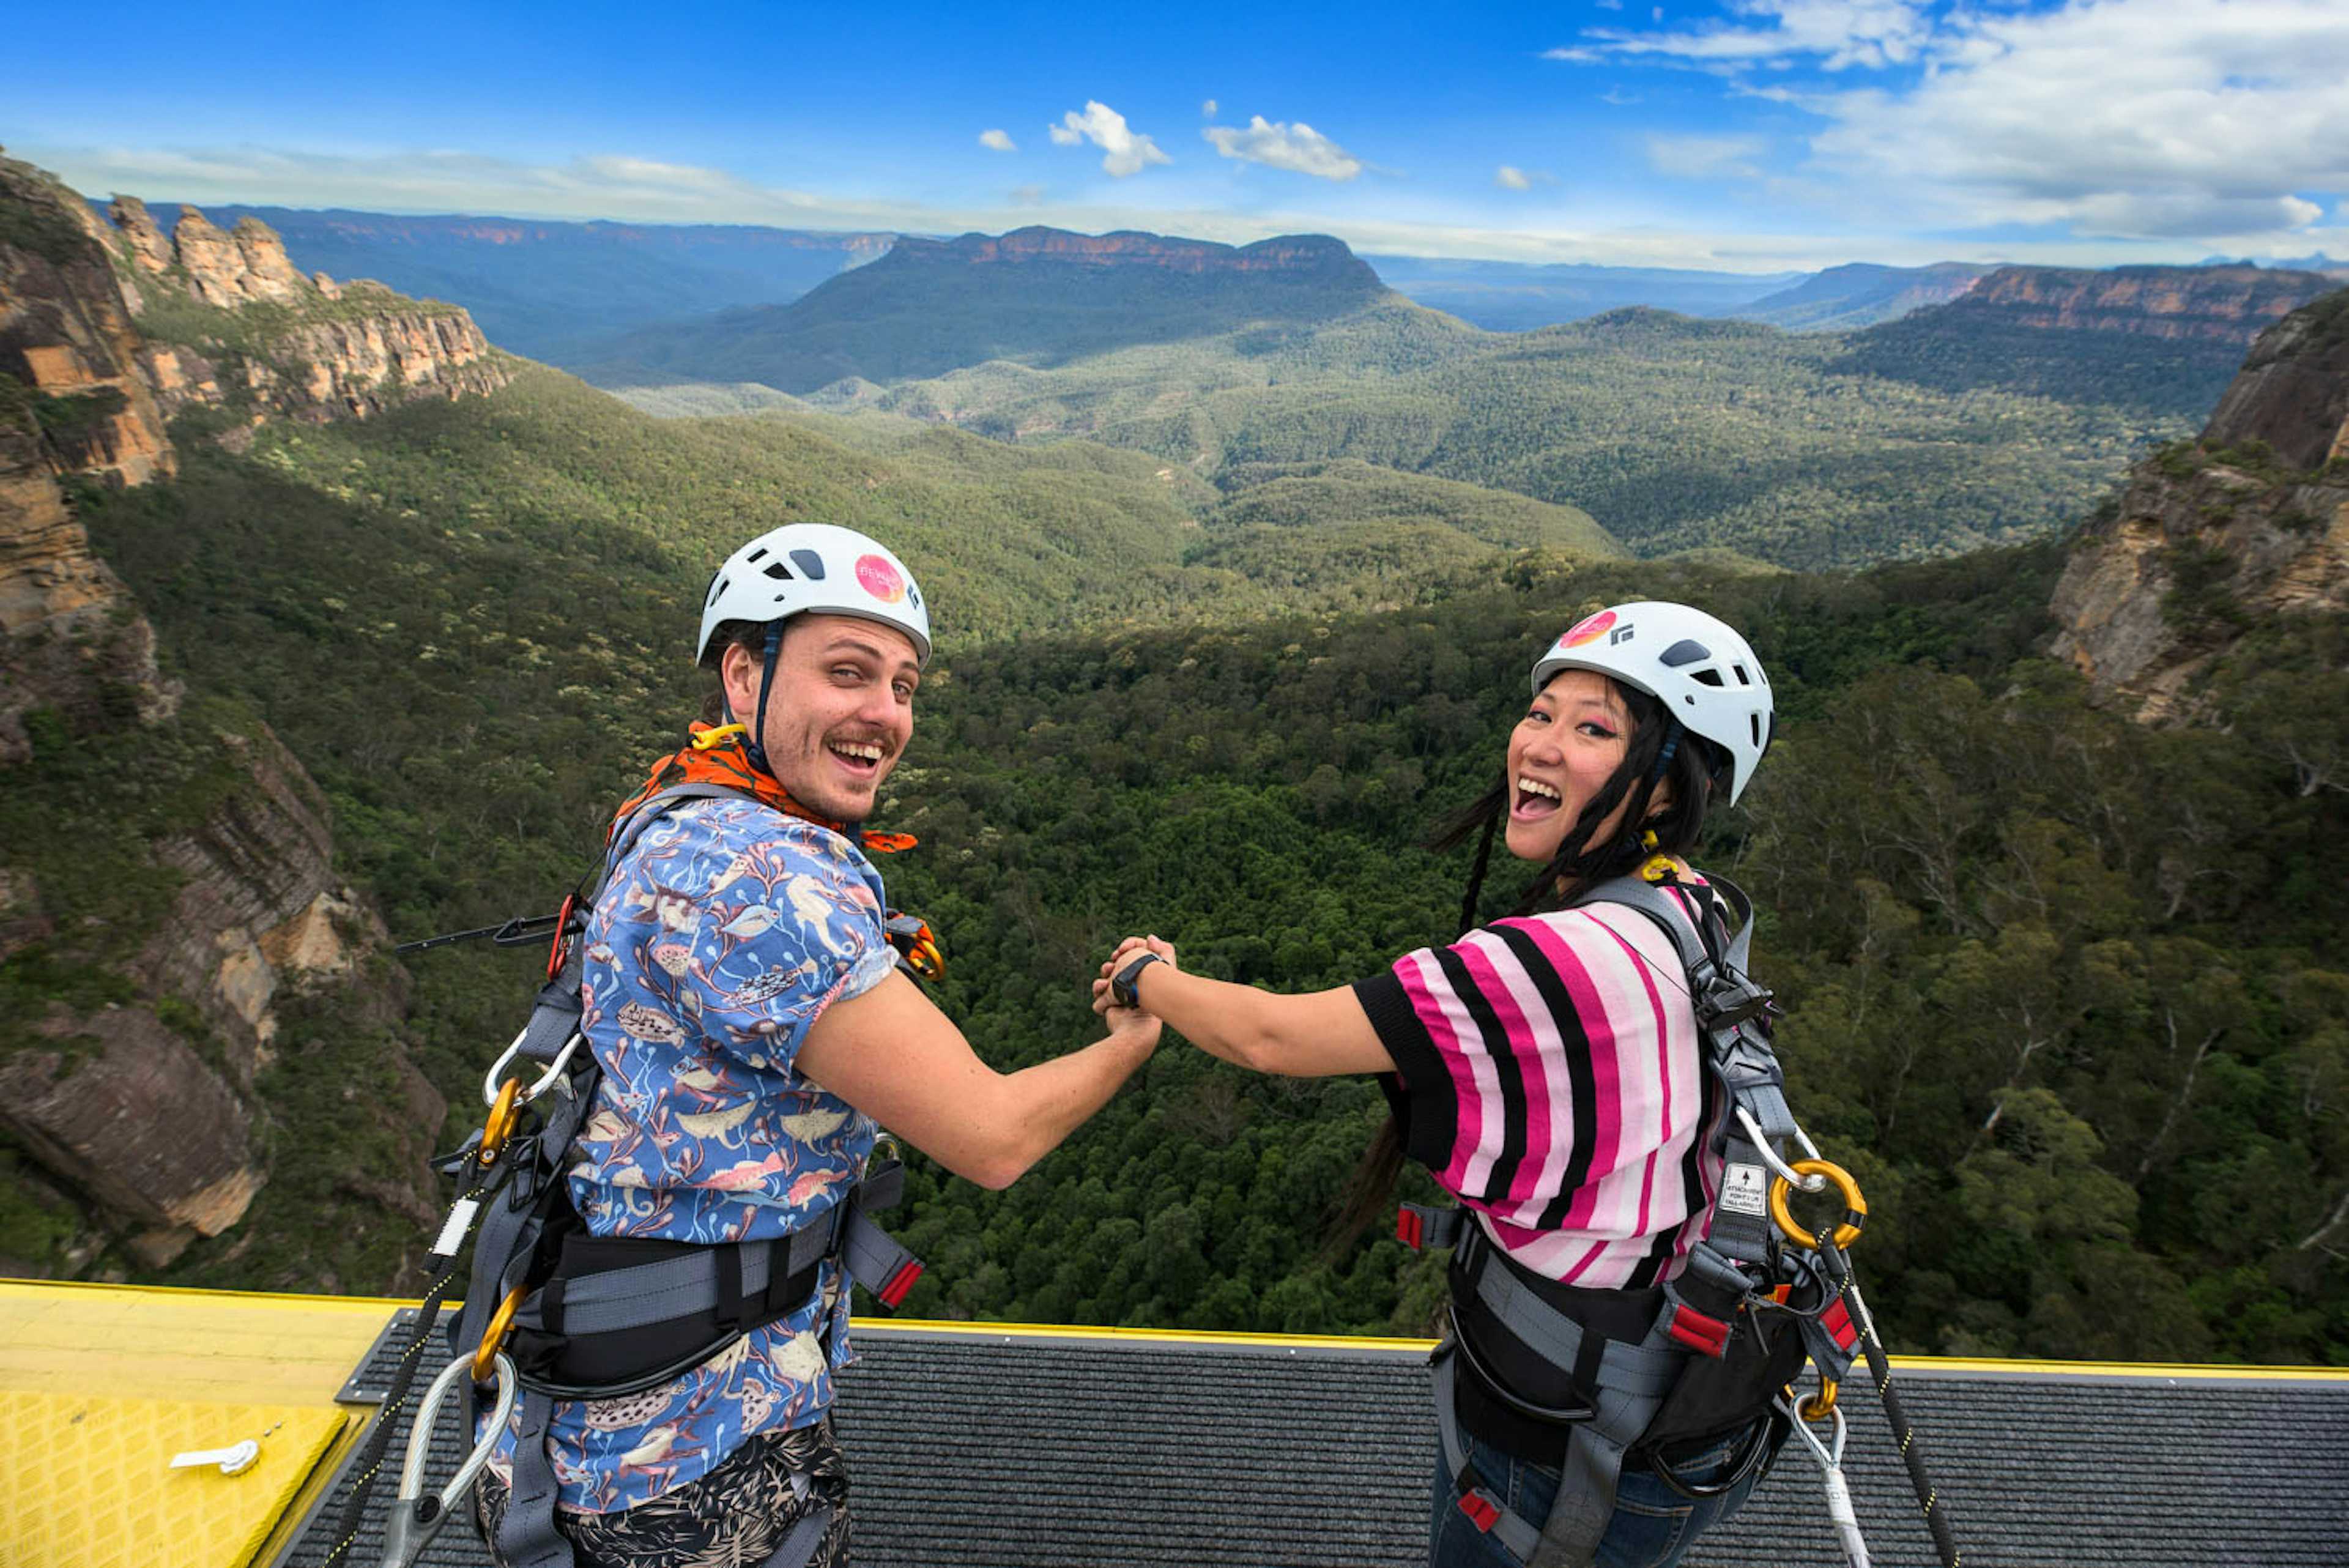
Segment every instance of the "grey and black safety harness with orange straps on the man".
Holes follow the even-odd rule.
[[[449,1324],[453,1359],[418,1406],[409,1434],[399,1500],[385,1526],[385,1568],[413,1563],[463,1505],[510,1415],[517,1439],[507,1512],[496,1537],[498,1556],[512,1568],[573,1568],[571,1542],[554,1526],[557,1479],[547,1432],[557,1401],[615,1399],[702,1366],[754,1328],[806,1307],[824,1260],[834,1260],[886,1307],[902,1302],[921,1276],[921,1260],[871,1218],[904,1192],[904,1166],[893,1157],[869,1161],[862,1180],[813,1225],[770,1241],[705,1246],[590,1237],[571,1206],[566,1152],[594,1107],[601,1079],[580,1034],[583,952],[576,938],[585,931],[585,910],[644,830],[684,802],[754,797],[792,816],[822,820],[763,773],[742,766],[735,736],[738,726],[695,726],[695,743],[655,769],[653,780],[620,809],[594,891],[585,900],[566,900],[554,922],[547,983],[538,990],[529,1023],[489,1070],[489,1119],[444,1164],[444,1171],[458,1175],[465,1197],[442,1225],[432,1260],[444,1276],[453,1272],[465,1237],[479,1225],[472,1241],[472,1288],[463,1312]],[[728,741],[735,745],[726,745]],[[824,825],[853,832],[839,823]],[[879,851],[911,846],[904,835],[860,839]],[[886,933],[900,964],[918,978],[935,980],[944,971],[923,922],[888,912]],[[437,1295],[430,1305],[437,1309]],[[430,1314],[418,1319],[418,1345],[430,1324]],[[827,1352],[829,1333],[832,1316],[824,1314]],[[399,1371],[383,1425],[404,1401],[413,1347]],[[460,1396],[467,1432],[474,1432],[484,1387],[496,1389],[496,1410],[479,1446],[442,1493],[423,1495],[423,1455],[439,1403],[451,1394]],[[366,1469],[364,1481],[371,1479],[373,1469]],[[355,1497],[357,1502],[362,1500]],[[803,1568],[829,1523],[829,1507],[813,1509],[761,1568]],[[348,1540],[329,1563],[345,1549]]]

